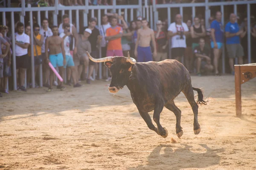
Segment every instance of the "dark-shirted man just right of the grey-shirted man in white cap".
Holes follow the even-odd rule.
[[[100,48],[100,43],[102,40],[102,36],[99,34],[99,30],[95,27],[96,26],[96,20],[95,18],[91,18],[89,20],[89,26],[85,27],[89,28],[92,33],[88,37],[90,44],[91,44],[91,56],[93,58],[99,58],[99,48]],[[96,74],[98,73],[98,64],[93,61],[89,61],[89,72],[87,75],[86,82],[87,84],[90,84],[90,80],[92,79],[91,76],[93,74],[93,69],[95,68]]]

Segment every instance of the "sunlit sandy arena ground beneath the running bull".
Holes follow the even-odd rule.
[[[149,130],[128,88],[113,95],[109,82],[47,93],[45,88],[11,91],[0,99],[0,169],[3,170],[255,170],[256,79],[242,85],[236,117],[234,77],[192,77],[207,106],[199,107],[201,133],[183,94],[183,136],[175,115],[163,109],[164,139]],[[151,117],[153,113],[150,113]],[[155,123],[154,123],[155,124]],[[177,143],[171,142],[173,137]]]

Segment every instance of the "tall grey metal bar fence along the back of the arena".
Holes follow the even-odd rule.
[[[117,12],[118,14],[121,14],[121,12],[124,12],[124,19],[127,22],[130,22],[134,20],[134,15],[137,16],[143,16],[146,17],[147,20],[150,22],[150,27],[156,29],[156,21],[159,19],[159,11],[162,9],[167,10],[167,18],[168,18],[168,25],[171,23],[171,10],[173,8],[179,8],[179,13],[183,15],[184,8],[190,7],[192,8],[192,17],[194,18],[196,16],[196,7],[205,7],[205,20],[207,20],[210,17],[210,9],[209,6],[220,6],[221,12],[224,14],[224,6],[233,6],[234,13],[237,13],[237,6],[245,4],[247,5],[247,28],[248,32],[250,32],[250,5],[256,3],[256,0],[250,0],[250,1],[235,1],[235,2],[209,2],[209,0],[205,0],[204,3],[181,3],[181,4],[156,4],[156,1],[152,1],[152,5],[148,5],[148,0],[143,1],[138,0],[137,5],[116,5],[116,0],[113,0],[112,6],[89,6],[88,0],[85,0],[85,6],[58,6],[58,0],[55,0],[55,6],[54,7],[31,7],[30,5],[28,7],[25,6],[25,0],[22,0],[21,8],[0,8],[0,12],[2,12],[2,20],[3,25],[6,25],[6,13],[11,13],[11,33],[12,33],[12,42],[15,42],[15,18],[14,14],[15,12],[20,13],[20,22],[24,23],[24,17],[26,12],[29,12],[29,20],[30,20],[30,26],[33,28],[33,14],[37,13],[37,22],[40,26],[41,24],[41,12],[44,11],[44,15],[46,18],[49,18],[49,14],[52,13],[53,16],[53,24],[58,25],[58,14],[61,12],[61,16],[65,13],[65,11],[68,11],[69,17],[70,17],[70,23],[72,23],[73,20],[73,11],[75,11],[75,18],[76,18],[76,28],[77,31],[79,31],[80,24],[83,24],[83,26],[87,26],[88,23],[88,17],[95,17],[98,18],[98,25],[101,25],[101,15],[102,11],[104,13],[107,13],[107,10],[112,10],[114,12]],[[79,21],[79,17],[83,17],[83,23]],[[222,23],[224,23],[224,17],[222,17]],[[208,24],[206,22],[206,24]],[[31,36],[33,36],[33,29],[31,29]],[[250,34],[247,34],[248,36],[248,62],[251,62],[251,41],[250,41]],[[33,47],[34,42],[33,39],[31,39],[31,46]],[[223,47],[224,48],[224,47]],[[15,45],[12,45],[12,59],[13,59],[13,80],[14,80],[14,90],[17,90],[17,82],[16,82],[16,58],[15,58]],[[32,88],[35,88],[35,73],[34,73],[34,48],[31,48],[31,68],[32,68]],[[100,57],[101,51],[100,51]],[[237,61],[236,61],[237,63]],[[222,73],[225,73],[225,53],[222,53]],[[95,74],[93,74],[95,77]],[[99,78],[102,78],[102,67],[99,67]],[[64,78],[65,79],[65,78]],[[66,79],[65,79],[66,80]],[[26,81],[25,81],[26,83]],[[42,82],[42,65],[40,65],[40,86],[43,86]]]

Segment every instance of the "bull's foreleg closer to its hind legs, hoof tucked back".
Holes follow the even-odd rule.
[[[156,100],[159,101],[159,100]],[[157,124],[157,134],[161,135],[163,138],[166,138],[168,136],[168,131],[166,128],[162,127],[160,125],[160,113],[163,111],[163,106],[164,104],[162,102],[156,103],[154,105],[154,114],[153,114],[153,119],[154,122]]]

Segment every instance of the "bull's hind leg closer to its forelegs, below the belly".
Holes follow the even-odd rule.
[[[183,135],[183,130],[180,126],[181,111],[179,108],[177,108],[174,101],[167,103],[165,107],[172,111],[176,116],[176,134],[180,138]]]

